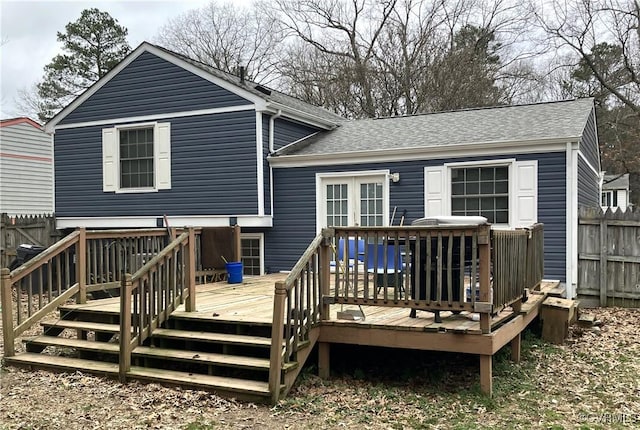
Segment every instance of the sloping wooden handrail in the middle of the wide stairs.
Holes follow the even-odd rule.
[[[195,310],[195,231],[189,229],[133,275],[125,274],[120,295],[120,379],[131,367],[131,352],[184,302]]]

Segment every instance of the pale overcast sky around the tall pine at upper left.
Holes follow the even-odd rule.
[[[238,1],[238,0],[234,0]],[[0,0],[0,118],[22,116],[15,98],[43,75],[44,66],[60,52],[56,40],[82,10],[97,7],[129,30],[132,48],[152,41],[159,28],[173,16],[202,7],[209,0]]]

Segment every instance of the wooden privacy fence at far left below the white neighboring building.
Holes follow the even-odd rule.
[[[10,217],[0,214],[0,267],[9,267],[16,257],[16,248],[23,243],[44,246],[56,243],[62,236],[56,230],[53,215]]]

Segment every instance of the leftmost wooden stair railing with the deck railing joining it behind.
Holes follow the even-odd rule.
[[[175,234],[175,233],[173,233]],[[0,297],[5,356],[15,339],[57,306],[87,295],[116,296],[125,272],[135,272],[168,243],[166,229],[78,229],[13,271],[2,269]]]

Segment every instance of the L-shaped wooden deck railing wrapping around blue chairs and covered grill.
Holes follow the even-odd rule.
[[[335,227],[330,303],[480,314],[518,308],[543,273],[543,225]]]

